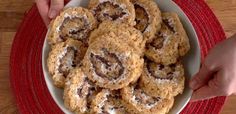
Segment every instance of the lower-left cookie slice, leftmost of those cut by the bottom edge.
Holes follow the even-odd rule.
[[[64,104],[77,114],[89,113],[92,100],[100,91],[100,88],[88,80],[81,68],[76,68],[66,78]]]

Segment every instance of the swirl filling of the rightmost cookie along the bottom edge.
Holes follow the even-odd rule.
[[[159,97],[147,95],[138,85],[133,87],[134,100],[146,107],[152,108],[160,100]]]

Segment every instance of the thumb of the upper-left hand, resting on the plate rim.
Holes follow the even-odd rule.
[[[64,0],[51,0],[48,17],[51,19],[55,18],[63,7],[64,7]]]

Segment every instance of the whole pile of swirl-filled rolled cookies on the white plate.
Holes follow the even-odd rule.
[[[184,89],[188,37],[153,0],[90,0],[50,25],[48,70],[78,114],[165,114]]]

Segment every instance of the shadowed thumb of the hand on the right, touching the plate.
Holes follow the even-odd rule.
[[[211,78],[213,70],[209,69],[205,64],[202,64],[200,71],[191,79],[189,86],[196,90],[205,85]]]

